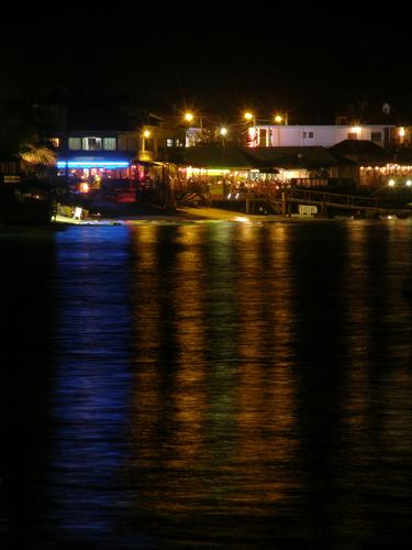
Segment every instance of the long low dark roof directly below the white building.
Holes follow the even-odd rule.
[[[248,150],[261,164],[279,168],[327,168],[347,164],[321,146],[254,147]]]

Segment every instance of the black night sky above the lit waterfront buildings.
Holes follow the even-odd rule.
[[[402,14],[388,25],[382,14],[380,23],[356,11],[324,20],[298,7],[231,15],[210,4],[208,13],[193,7],[185,15],[165,13],[162,4],[125,10],[79,16],[70,7],[55,18],[26,14],[19,28],[11,23],[0,38],[1,94],[66,84],[125,91],[151,109],[186,103],[222,117],[246,107],[261,116],[282,109],[313,121],[364,99],[411,110]]]

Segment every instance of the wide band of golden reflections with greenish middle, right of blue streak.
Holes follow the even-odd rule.
[[[152,232],[135,241],[137,506],[270,514],[299,486],[288,234],[181,226],[168,242],[167,273],[153,256],[159,242]],[[158,346],[153,336],[141,342],[142,326]]]

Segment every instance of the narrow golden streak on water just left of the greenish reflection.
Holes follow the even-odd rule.
[[[204,328],[204,258],[201,243],[204,229],[200,226],[179,228],[177,242],[185,244],[176,258],[176,406],[170,446],[174,449],[170,468],[193,468],[204,459],[204,414],[207,392]],[[181,297],[185,296],[182,300]],[[194,480],[191,479],[191,483]],[[186,487],[187,491],[193,487]]]

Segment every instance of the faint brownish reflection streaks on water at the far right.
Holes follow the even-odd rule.
[[[370,487],[377,494],[391,487],[391,494],[402,495],[402,487],[408,485],[402,472],[405,457],[412,452],[412,416],[405,416],[412,391],[408,374],[412,351],[398,345],[398,329],[393,331],[397,326],[409,330],[410,319],[410,310],[400,307],[401,295],[393,286],[402,280],[404,243],[410,242],[403,221],[399,226],[374,227],[352,223],[347,226],[346,242],[342,284],[348,299],[342,315],[345,346],[350,353],[345,362],[342,439],[350,447],[344,447],[341,481],[357,491],[339,505],[353,510],[353,516],[345,517],[338,508],[336,512],[347,524],[343,529],[348,531],[352,522],[364,525],[369,520],[363,494]]]

